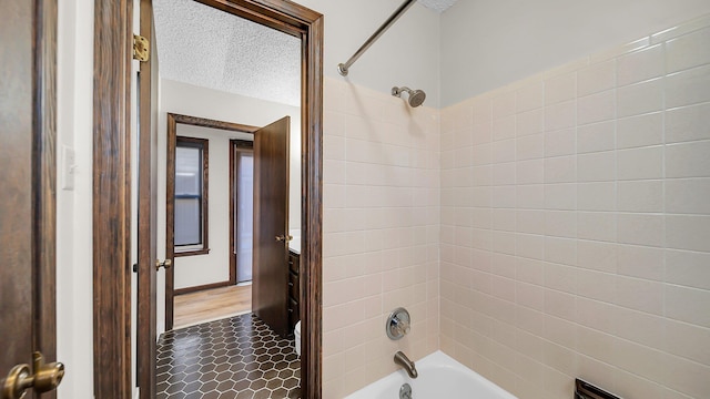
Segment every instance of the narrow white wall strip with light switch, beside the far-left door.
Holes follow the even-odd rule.
[[[74,190],[57,192],[57,358],[67,366],[62,398],[93,397],[92,98],[93,2],[60,0],[58,153],[75,150]],[[79,49],[81,49],[79,51]]]

